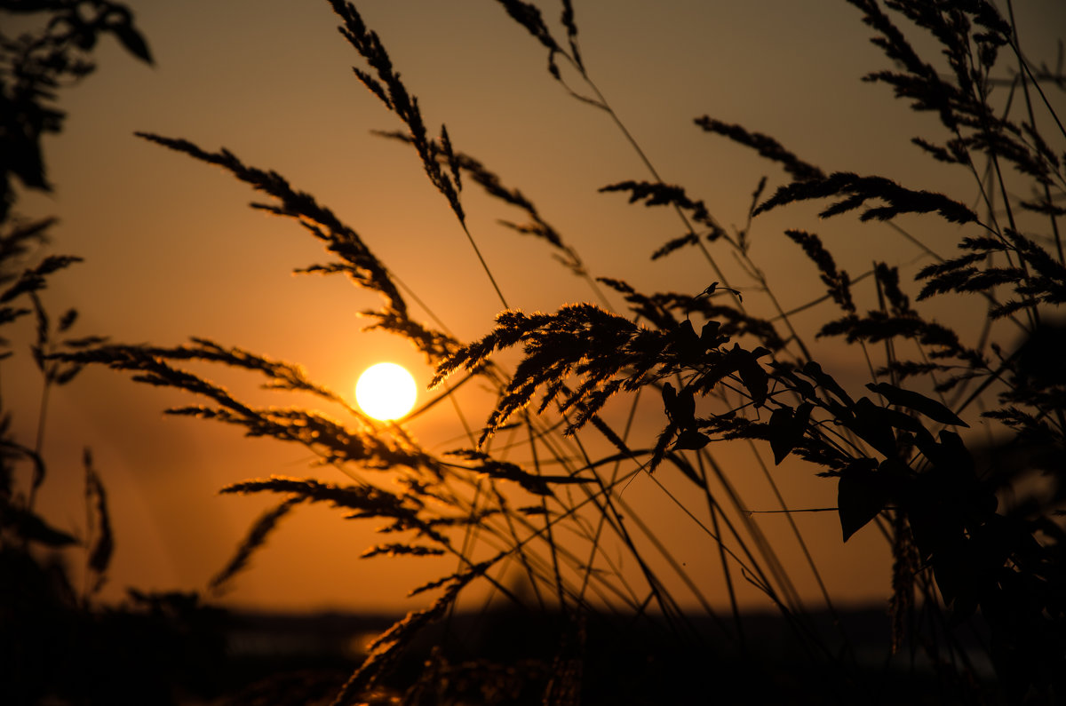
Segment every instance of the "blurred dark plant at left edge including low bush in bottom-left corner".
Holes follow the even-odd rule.
[[[76,309],[58,321],[41,293],[49,279],[80,261],[47,255],[54,219],[31,220],[14,210],[15,180],[50,190],[41,139],[62,130],[58,90],[93,70],[91,51],[112,33],[134,57],[151,61],[129,10],[100,0],[3,0],[0,12],[34,14],[37,33],[9,37],[0,32],[0,325],[33,317],[29,344],[42,374],[36,436],[18,438],[15,411],[0,395],[0,701],[4,704],[176,703],[175,685],[190,692],[217,691],[210,668],[222,655],[217,611],[194,594],[146,594],[131,590],[118,607],[102,607],[114,536],[107,492],[86,449],[83,454],[86,535],[77,539],[36,509],[48,476],[43,453],[48,397],[70,383],[79,363],[59,359],[99,346],[99,336],[74,336]],[[10,328],[9,328],[10,330]],[[0,359],[25,341],[0,338]],[[23,412],[23,411],[19,411]],[[84,550],[82,585],[71,579],[61,549]]]

